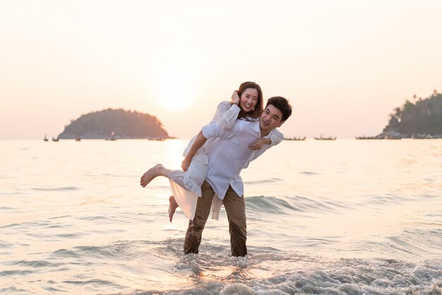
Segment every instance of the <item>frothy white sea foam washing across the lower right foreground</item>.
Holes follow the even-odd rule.
[[[243,270],[252,272],[256,265]],[[442,260],[421,265],[386,260],[322,261],[309,267],[281,265],[275,275],[198,282],[198,289],[181,289],[184,294],[441,294]],[[213,265],[212,267],[217,267]],[[247,270],[249,268],[249,270]],[[200,270],[204,272],[204,270]],[[240,281],[240,282],[235,282]],[[218,284],[216,284],[216,282]],[[202,291],[204,290],[204,291]],[[206,293],[207,292],[207,293]],[[166,291],[166,294],[178,294]]]

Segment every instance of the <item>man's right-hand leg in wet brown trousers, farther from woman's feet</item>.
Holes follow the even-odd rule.
[[[245,256],[247,254],[247,226],[246,202],[244,200],[244,195],[240,198],[232,189],[232,186],[229,186],[222,203],[224,204],[227,213],[227,219],[229,219],[232,256]]]

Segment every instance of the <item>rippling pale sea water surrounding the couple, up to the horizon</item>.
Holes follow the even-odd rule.
[[[188,140],[0,141],[0,294],[441,294],[442,140],[284,141],[183,255],[167,179]],[[232,151],[234,152],[234,151]]]

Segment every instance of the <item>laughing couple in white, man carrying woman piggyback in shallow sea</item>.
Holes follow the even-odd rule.
[[[272,97],[263,110],[261,87],[242,83],[232,102],[221,102],[210,124],[203,126],[184,150],[181,170],[161,164],[141,176],[145,187],[157,176],[169,178],[173,195],[169,198],[169,219],[177,207],[189,217],[184,253],[198,253],[205,222],[212,208],[217,219],[224,205],[229,221],[233,256],[244,256],[246,248],[246,203],[239,173],[273,145],[282,141],[280,127],[292,114],[284,97]]]

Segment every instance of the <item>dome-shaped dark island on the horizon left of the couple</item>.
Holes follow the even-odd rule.
[[[86,138],[170,138],[155,116],[124,109],[104,109],[71,121],[60,133],[61,139]]]

